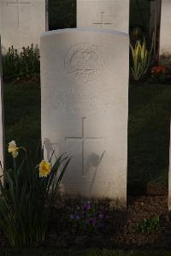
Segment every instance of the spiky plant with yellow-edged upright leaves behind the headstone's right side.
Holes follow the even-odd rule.
[[[145,39],[143,43],[138,40],[134,47],[130,44],[130,48],[132,53],[131,74],[133,80],[141,80],[149,70],[153,44],[151,44],[150,51],[148,51]]]

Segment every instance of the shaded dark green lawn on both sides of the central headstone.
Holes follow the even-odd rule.
[[[128,183],[168,181],[171,86],[139,84],[129,90]],[[40,142],[40,86],[5,84],[6,146],[10,140],[28,150]],[[7,166],[11,158],[6,154]]]

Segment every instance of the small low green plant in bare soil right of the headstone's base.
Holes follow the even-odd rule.
[[[137,223],[134,232],[139,234],[153,234],[160,226],[160,217],[155,215],[149,219],[144,218],[143,221]]]

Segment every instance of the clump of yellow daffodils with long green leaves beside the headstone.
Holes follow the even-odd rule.
[[[19,151],[25,155],[21,164],[16,162]],[[22,247],[44,241],[50,208],[70,158],[61,156],[53,166],[51,158],[35,164],[14,140],[9,143],[9,153],[14,167],[3,170],[7,186],[0,181],[0,226],[12,247]]]

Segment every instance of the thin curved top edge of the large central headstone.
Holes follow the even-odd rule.
[[[109,29],[102,29],[102,28],[94,28],[94,27],[89,27],[89,28],[64,28],[64,29],[57,29],[57,30],[51,30],[45,33],[41,34],[41,37],[48,36],[48,35],[53,35],[53,34],[58,34],[58,33],[80,33],[80,32],[92,32],[92,33],[107,33],[107,34],[114,34],[114,35],[120,35],[124,37],[129,37],[128,33],[120,32],[120,31],[115,31],[115,30],[109,30]]]

